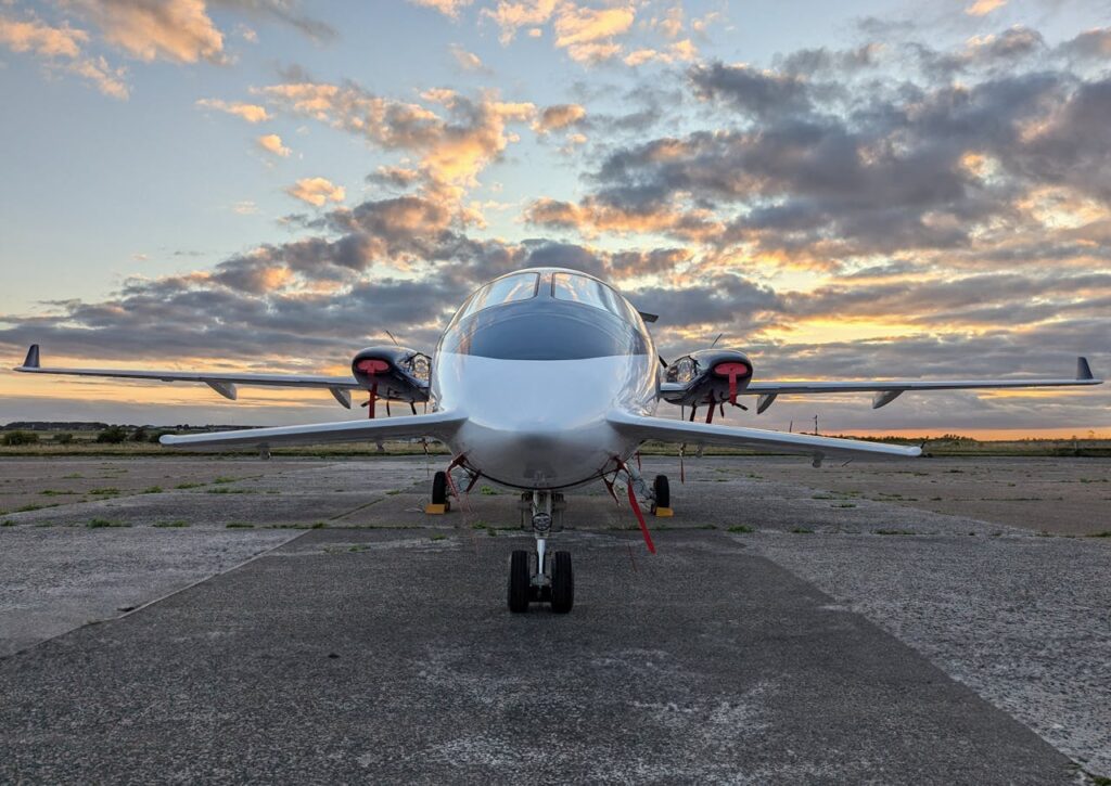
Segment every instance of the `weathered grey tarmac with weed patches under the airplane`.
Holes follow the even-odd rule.
[[[569,495],[563,616],[506,609],[513,495],[427,516],[422,458],[4,460],[63,504],[0,515],[0,782],[1097,783],[1111,462],[1041,460],[1067,521],[924,510],[1022,461],[645,457],[659,553]]]

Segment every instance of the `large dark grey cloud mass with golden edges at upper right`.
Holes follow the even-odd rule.
[[[871,48],[788,53],[780,69],[694,66],[689,90],[712,103],[709,129],[611,143],[584,175],[583,198],[536,199],[524,218],[588,239],[677,239],[774,268],[835,271],[883,254],[944,253],[969,266],[1017,254],[1091,260],[1082,243],[1108,242],[1098,222],[1111,200],[1100,152],[1111,80],[1060,68],[1027,28],[910,51],[918,74],[875,70]],[[843,74],[860,68],[873,70],[857,89]],[[600,138],[617,129],[591,122]],[[1029,208],[1047,188],[1053,202]]]

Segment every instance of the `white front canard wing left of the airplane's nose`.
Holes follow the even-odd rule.
[[[159,442],[168,447],[209,450],[220,447],[278,447],[320,445],[329,442],[374,442],[431,436],[450,437],[467,420],[458,412],[440,411],[427,415],[406,415],[366,421],[339,421],[272,429],[241,429],[208,434],[166,434]]]

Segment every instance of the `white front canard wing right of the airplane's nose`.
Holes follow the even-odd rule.
[[[743,429],[710,423],[673,421],[667,417],[648,417],[629,412],[613,412],[610,424],[622,434],[639,440],[682,442],[688,445],[724,445],[754,447],[775,452],[812,455],[815,463],[827,455],[913,458],[922,454],[919,447],[888,445],[860,440],[840,440],[813,434],[787,434],[765,429]]]

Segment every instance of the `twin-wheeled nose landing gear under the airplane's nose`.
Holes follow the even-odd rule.
[[[528,495],[526,495],[528,496]],[[570,552],[548,553],[548,535],[552,532],[552,492],[532,492],[528,503],[532,514],[532,534],[537,550],[514,551],[509,556],[509,611],[529,611],[529,604],[548,603],[556,614],[567,614],[574,605],[574,572]]]

